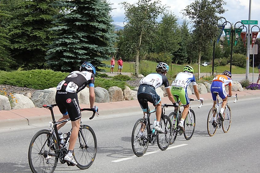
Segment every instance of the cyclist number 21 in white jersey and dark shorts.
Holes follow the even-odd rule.
[[[146,113],[146,104],[143,101],[141,101],[141,99],[146,99],[150,103],[156,105],[157,122],[156,122],[155,130],[158,132],[163,132],[162,128],[160,127],[162,102],[161,102],[161,97],[156,93],[155,89],[160,87],[161,85],[164,85],[169,100],[173,103],[175,107],[179,106],[179,104],[175,102],[170,92],[169,81],[165,76],[168,70],[169,70],[169,66],[166,63],[160,62],[156,66],[157,73],[150,73],[146,77],[142,78],[142,80],[139,82],[140,86],[137,92],[137,99],[144,114]]]

